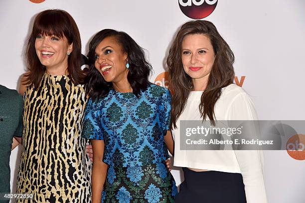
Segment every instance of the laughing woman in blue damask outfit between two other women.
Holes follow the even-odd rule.
[[[93,147],[92,201],[174,202],[169,91],[149,82],[152,66],[125,32],[98,32],[88,58],[82,136]]]

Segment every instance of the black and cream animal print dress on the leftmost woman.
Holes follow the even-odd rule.
[[[84,88],[68,76],[44,74],[39,88],[24,93],[18,203],[90,203],[91,162],[81,138]]]

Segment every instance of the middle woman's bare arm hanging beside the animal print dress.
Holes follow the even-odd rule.
[[[108,165],[103,162],[104,140],[91,140],[93,149],[92,203],[101,203]]]

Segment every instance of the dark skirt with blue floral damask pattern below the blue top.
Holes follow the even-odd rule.
[[[176,183],[164,163],[110,166],[102,203],[174,203],[176,194]]]

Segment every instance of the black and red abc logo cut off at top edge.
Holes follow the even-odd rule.
[[[190,18],[201,19],[210,15],[218,0],[179,0],[181,11]]]

